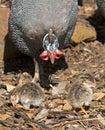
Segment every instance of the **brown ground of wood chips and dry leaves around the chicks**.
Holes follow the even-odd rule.
[[[20,104],[13,106],[9,100],[13,88],[32,80],[34,65],[30,57],[17,57],[6,61],[6,65],[0,63],[0,130],[105,129],[105,23],[95,9],[94,5],[79,7],[79,18],[95,28],[97,39],[71,42],[63,49],[64,57],[54,65],[43,62],[49,76],[42,83],[47,97],[45,107],[25,109]],[[88,115],[74,113],[66,100],[67,85],[71,86],[80,73],[89,73],[96,81]]]

